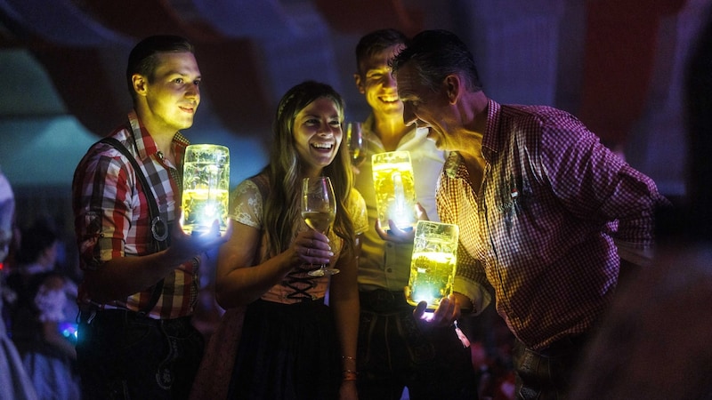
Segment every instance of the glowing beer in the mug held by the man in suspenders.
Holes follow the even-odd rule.
[[[210,230],[214,220],[220,221],[220,230],[227,229],[228,190],[206,188],[183,191],[183,231],[203,233]]]

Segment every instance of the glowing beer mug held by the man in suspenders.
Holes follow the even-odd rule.
[[[224,233],[229,191],[230,150],[212,144],[188,146],[183,160],[183,231],[189,235],[205,233],[218,220]]]

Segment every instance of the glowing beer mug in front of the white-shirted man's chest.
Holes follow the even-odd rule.
[[[416,185],[408,151],[390,151],[371,157],[376,210],[381,227],[388,220],[398,228],[413,228],[417,221]]]

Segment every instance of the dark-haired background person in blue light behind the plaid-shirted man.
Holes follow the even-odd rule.
[[[55,269],[60,245],[48,219],[38,218],[22,231],[18,264],[7,278],[17,293],[10,332],[39,398],[79,399],[77,352],[61,333],[61,323],[68,319],[69,279]]]

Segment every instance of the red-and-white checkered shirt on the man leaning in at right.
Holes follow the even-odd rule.
[[[441,220],[460,228],[454,290],[476,299],[491,284],[499,315],[530,348],[587,332],[611,301],[617,244],[648,250],[667,200],[554,108],[490,100],[482,155],[477,193],[457,153],[438,182]]]

